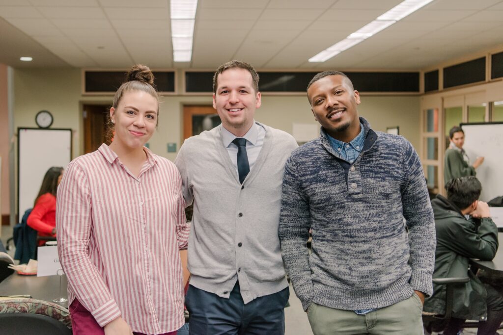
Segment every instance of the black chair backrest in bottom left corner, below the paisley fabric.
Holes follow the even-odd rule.
[[[0,334],[71,335],[71,329],[47,315],[0,313]]]

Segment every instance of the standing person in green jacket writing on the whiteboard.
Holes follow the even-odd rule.
[[[451,143],[445,152],[444,182],[447,183],[459,177],[474,176],[475,169],[482,164],[484,157],[477,157],[473,165],[470,165],[470,160],[463,150],[465,133],[461,127],[452,127],[449,131],[449,139]]]

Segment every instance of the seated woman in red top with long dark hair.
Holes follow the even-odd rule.
[[[63,168],[53,166],[45,173],[42,186],[35,199],[27,224],[39,236],[56,237],[56,190],[63,175]],[[43,245],[45,241],[40,241]]]

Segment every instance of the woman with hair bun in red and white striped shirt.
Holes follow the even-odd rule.
[[[175,334],[184,323],[182,180],[144,147],[159,113],[153,75],[135,65],[115,93],[110,146],[74,159],[58,188],[59,259],[74,334]]]

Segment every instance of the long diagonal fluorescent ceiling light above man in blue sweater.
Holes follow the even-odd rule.
[[[433,0],[405,0],[393,7],[391,10],[387,11],[376,20],[370,22],[369,24],[358,29],[356,32],[350,34],[344,40],[326,48],[317,55],[309,58],[309,62],[324,62],[333,56],[336,56],[347,50],[358,43],[366,40],[367,38],[374,36],[380,31],[388,28],[392,24],[396,23],[398,20],[403,19],[407,15],[417,11],[423,6],[431,3]]]

